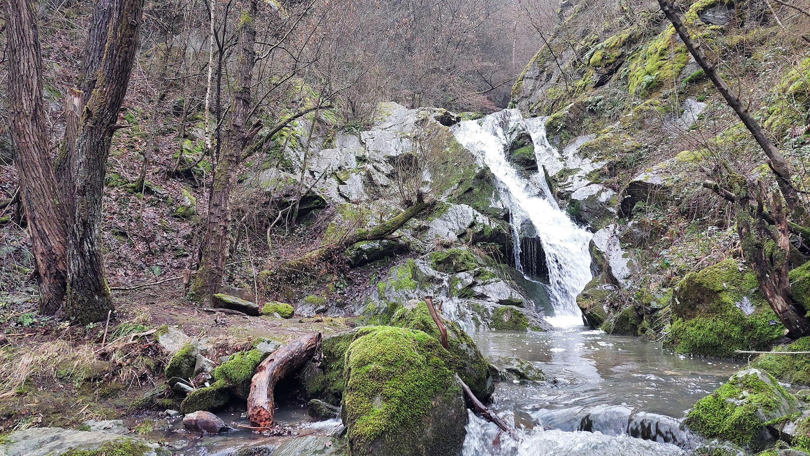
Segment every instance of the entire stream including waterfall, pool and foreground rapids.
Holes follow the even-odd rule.
[[[506,152],[519,135],[528,133],[538,163],[560,165],[548,144],[543,119],[523,119],[518,110],[502,110],[480,121],[452,127],[459,143],[497,180],[513,230],[516,269],[528,282],[544,287],[551,308],[547,332],[471,333],[491,359],[527,361],[547,376],[545,381],[502,381],[492,409],[514,424],[518,441],[470,413],[463,456],[676,456],[690,454],[700,437],[683,425],[684,412],[709,394],[740,366],[674,355],[660,344],[613,336],[582,326],[576,296],[590,281],[589,231],[560,208],[540,171],[516,170]],[[521,265],[522,238],[542,243],[548,282],[530,277]],[[535,260],[535,259],[533,259]],[[238,427],[241,411],[223,415]],[[241,448],[266,449],[249,454],[330,454],[312,450],[313,439],[339,432],[339,419],[315,421],[305,409],[283,407],[276,416],[291,436],[264,437],[241,428],[224,435],[196,439],[182,434],[179,419],[163,428],[164,441],[175,442],[175,454],[232,456]],[[280,445],[280,446],[279,446]],[[278,450],[272,450],[279,446]]]

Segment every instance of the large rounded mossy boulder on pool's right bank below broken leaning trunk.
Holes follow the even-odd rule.
[[[678,353],[731,357],[735,350],[765,349],[785,333],[757,278],[735,260],[687,274],[671,306],[666,345]]]

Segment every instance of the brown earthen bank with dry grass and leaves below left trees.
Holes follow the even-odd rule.
[[[155,336],[164,325],[205,340],[213,346],[215,363],[261,339],[283,343],[305,333],[326,336],[356,326],[351,318],[283,320],[205,312],[173,284],[118,292],[115,299],[117,319],[109,326],[68,325],[28,308],[3,312],[0,334],[7,342],[0,347],[0,435],[98,419],[124,419],[137,430],[148,428],[145,424],[163,411],[177,410],[179,398],[165,386],[169,355]]]

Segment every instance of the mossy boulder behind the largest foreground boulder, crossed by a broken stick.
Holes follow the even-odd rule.
[[[458,323],[443,320],[447,328],[447,345],[450,357],[446,363],[450,370],[458,372],[477,398],[488,400],[495,390],[493,376],[496,369],[481,355],[478,346],[465,333]],[[390,321],[391,326],[418,329],[439,340],[440,333],[433,317],[430,316],[427,304],[420,302],[415,308],[402,308],[397,311]]]

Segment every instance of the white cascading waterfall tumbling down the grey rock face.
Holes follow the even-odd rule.
[[[591,278],[588,252],[591,234],[560,209],[548,188],[542,166],[539,174],[527,179],[506,158],[512,140],[521,131],[528,131],[535,143],[535,153],[553,159],[556,150],[548,144],[544,123],[535,119],[527,123],[520,111],[502,110],[479,121],[458,123],[452,131],[456,140],[475,154],[498,181],[501,200],[509,208],[517,238],[515,259],[518,270],[522,270],[518,250],[521,225],[528,221],[535,228],[546,256],[555,312],[547,320],[555,326],[582,325],[582,313],[576,298]]]

